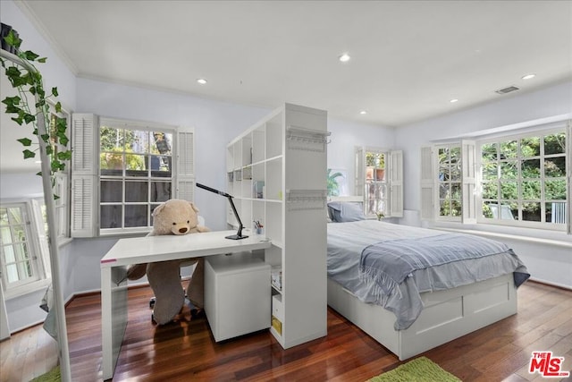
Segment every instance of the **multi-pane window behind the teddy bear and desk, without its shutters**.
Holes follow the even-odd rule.
[[[100,228],[151,226],[153,209],[172,196],[172,132],[109,120],[99,132]]]

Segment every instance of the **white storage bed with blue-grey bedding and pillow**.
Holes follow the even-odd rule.
[[[328,207],[328,305],[400,360],[517,313],[530,275],[503,243]]]

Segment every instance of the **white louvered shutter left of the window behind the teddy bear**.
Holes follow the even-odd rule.
[[[99,230],[97,115],[71,116],[71,237],[95,237]]]

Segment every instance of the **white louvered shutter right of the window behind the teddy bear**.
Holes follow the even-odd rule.
[[[175,198],[195,199],[195,133],[191,130],[178,132],[177,140],[177,187]]]

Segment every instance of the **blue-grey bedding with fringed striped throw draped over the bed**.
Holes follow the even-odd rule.
[[[462,255],[469,242],[473,250]],[[440,250],[443,244],[448,248],[445,252]],[[439,256],[429,259],[429,252]],[[409,262],[382,279],[377,276],[386,272],[383,256],[389,256],[393,262],[407,256]],[[393,312],[396,330],[410,327],[423,310],[420,293],[509,273],[513,273],[515,284],[519,285],[530,276],[517,255],[500,242],[375,220],[328,224],[327,264],[328,276],[360,301],[379,304]],[[374,271],[373,266],[379,264],[382,270]]]

